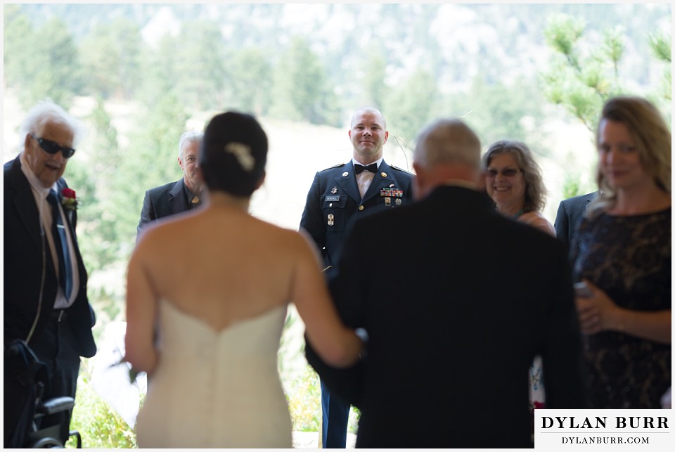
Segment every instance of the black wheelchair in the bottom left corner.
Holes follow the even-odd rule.
[[[69,431],[68,425],[41,426],[45,416],[65,411],[70,414],[75,399],[68,396],[43,399],[46,366],[25,342],[16,340],[5,348],[4,380],[6,421],[8,409],[15,418],[11,431],[5,432],[6,448],[64,448],[71,437],[77,439],[77,448],[82,448],[79,432]]]

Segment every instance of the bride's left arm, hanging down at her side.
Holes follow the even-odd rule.
[[[157,297],[143,265],[146,247],[136,247],[127,269],[127,336],[125,360],[136,371],[153,373],[158,353],[155,349]]]

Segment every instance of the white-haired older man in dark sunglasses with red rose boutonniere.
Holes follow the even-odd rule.
[[[46,364],[44,399],[74,398],[80,356],[96,354],[94,310],[75,234],[77,199],[62,178],[82,132],[82,124],[60,106],[38,103],[21,125],[23,151],[4,165],[4,344],[23,340]],[[20,369],[5,360],[8,446],[23,439],[20,411],[27,399],[14,378]],[[47,415],[39,427],[60,425],[65,441],[70,415]]]

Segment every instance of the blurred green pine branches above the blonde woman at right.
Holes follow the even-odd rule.
[[[595,39],[593,34],[596,34]],[[544,97],[576,117],[593,139],[605,101],[613,96],[640,92],[638,80],[626,74],[631,65],[626,62],[629,59],[626,53],[634,43],[622,25],[589,32],[584,18],[563,13],[549,16],[544,36],[546,44],[553,50],[548,69],[541,72]],[[653,57],[648,62],[655,71],[648,79],[648,88],[641,94],[664,112],[670,124],[670,34],[648,29],[642,39],[643,44],[648,44]],[[662,77],[658,77],[659,72]],[[585,176],[588,179],[589,174]],[[581,173],[566,174],[563,197],[570,198],[589,191],[588,188],[582,190],[583,185]]]

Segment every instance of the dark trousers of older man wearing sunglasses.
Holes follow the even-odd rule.
[[[72,348],[75,337],[68,327],[68,321],[58,322],[51,318],[45,330],[37,340],[31,340],[30,347],[40,361],[47,366],[49,385],[44,388],[42,399],[69,396],[75,399],[77,375],[79,374],[79,354]],[[64,411],[41,419],[40,428],[61,425],[61,438],[68,439],[72,413]]]

